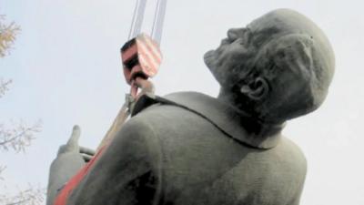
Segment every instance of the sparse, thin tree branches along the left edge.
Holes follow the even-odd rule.
[[[0,58],[9,54],[15,37],[20,31],[20,26],[14,22],[5,24],[5,15],[0,15]],[[0,99],[9,90],[11,79],[5,80],[0,77]],[[41,122],[36,122],[33,126],[28,126],[24,122],[16,123],[12,128],[7,128],[5,123],[0,122],[0,152],[15,151],[15,153],[25,152],[25,148],[31,145],[35,139],[35,133],[39,132]],[[6,167],[0,164],[0,185],[5,182],[2,177]],[[28,189],[20,190],[14,195],[0,194],[0,204],[2,205],[38,205],[44,201],[45,189],[36,188],[29,185]]]

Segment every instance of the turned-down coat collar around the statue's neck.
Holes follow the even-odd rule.
[[[257,120],[238,113],[235,108],[217,98],[197,92],[179,92],[166,97],[145,95],[136,102],[132,115],[136,115],[143,108],[155,103],[173,104],[187,108],[206,118],[228,137],[258,149],[276,147],[284,127],[284,125],[261,125]]]

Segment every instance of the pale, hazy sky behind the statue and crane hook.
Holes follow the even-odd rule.
[[[143,31],[150,33],[154,3]],[[6,190],[46,187],[48,168],[73,125],[80,144],[96,148],[129,91],[119,49],[127,40],[135,1],[0,0],[0,14],[22,31],[0,59],[0,77],[13,79],[0,98],[0,122],[41,119],[42,131],[26,153],[0,154]],[[153,82],[157,95],[193,90],[217,96],[218,85],[202,56],[227,29],[246,26],[276,8],[311,18],[329,37],[336,73],[319,110],[288,121],[283,133],[308,159],[302,205],[364,204],[364,13],[362,1],[169,1],[162,37],[164,60]]]

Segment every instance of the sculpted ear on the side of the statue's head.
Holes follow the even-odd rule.
[[[252,82],[240,88],[240,92],[253,100],[261,100],[269,91],[268,82],[263,77],[257,77]]]

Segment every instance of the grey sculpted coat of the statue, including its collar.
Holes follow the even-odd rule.
[[[281,128],[251,138],[246,119],[216,98],[166,98],[176,105],[126,122],[68,205],[298,204],[306,159]]]

